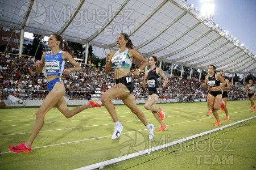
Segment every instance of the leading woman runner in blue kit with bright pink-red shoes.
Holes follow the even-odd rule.
[[[64,51],[61,50],[63,49],[63,44]],[[51,52],[44,52],[42,59],[36,61],[35,65],[38,73],[42,73],[43,67],[46,66],[49,94],[36,112],[36,121],[30,138],[28,138],[26,143],[21,143],[18,146],[10,146],[9,149],[13,152],[29,152],[31,150],[31,145],[34,142],[36,135],[38,135],[39,131],[43,128],[44,116],[53,106],[56,106],[56,108],[67,118],[71,118],[75,114],[84,111],[84,109],[101,107],[100,104],[91,100],[88,105],[81,105],[71,110],[68,109],[67,102],[64,99],[65,87],[61,80],[61,76],[63,74],[69,75],[72,71],[80,71],[81,66],[75,59],[73,59],[71,50],[60,35],[53,33],[48,39],[48,47],[51,49]],[[74,67],[65,69],[65,62],[67,61]]]

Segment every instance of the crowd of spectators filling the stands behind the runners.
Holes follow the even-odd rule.
[[[0,53],[0,99],[5,100],[8,95],[14,95],[22,100],[44,100],[47,90],[47,76],[38,74],[34,65],[34,59],[18,57],[13,54]],[[72,67],[67,64],[65,67]],[[130,71],[132,73],[133,70]],[[104,93],[115,83],[113,71],[106,74],[104,67],[82,65],[82,70],[71,75],[63,75],[63,83],[69,100],[89,99],[100,91]],[[134,79],[133,95],[135,99],[147,99],[147,86],[142,86],[141,73]],[[179,99],[179,101],[193,101],[206,99],[207,89],[198,79],[180,78],[169,76],[169,82],[164,88],[160,100]],[[247,95],[241,87],[232,85],[229,91],[229,100],[239,100]]]

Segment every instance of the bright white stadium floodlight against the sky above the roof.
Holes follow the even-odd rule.
[[[214,0],[201,0],[201,12],[205,19],[213,20]]]

